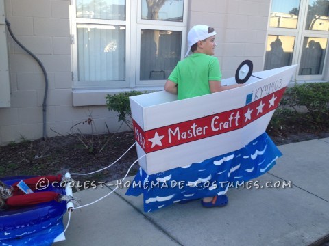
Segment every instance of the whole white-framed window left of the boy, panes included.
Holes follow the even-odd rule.
[[[187,2],[73,1],[73,88],[162,87],[184,55]]]

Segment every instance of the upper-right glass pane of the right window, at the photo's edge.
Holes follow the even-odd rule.
[[[305,29],[329,31],[329,0],[309,0]]]

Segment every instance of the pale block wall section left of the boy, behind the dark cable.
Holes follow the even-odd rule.
[[[3,1],[3,0],[1,0]],[[47,137],[66,135],[71,126],[95,120],[98,133],[117,131],[117,113],[106,106],[73,107],[68,0],[5,0],[5,18],[16,38],[42,61],[48,74]],[[43,136],[45,79],[40,66],[8,37],[11,106],[0,108],[0,145]],[[105,103],[105,98],[103,99]],[[106,122],[106,124],[105,124]],[[88,133],[88,125],[79,127]],[[75,128],[76,129],[76,128]],[[125,128],[121,128],[121,131]],[[95,132],[95,129],[94,129]]]

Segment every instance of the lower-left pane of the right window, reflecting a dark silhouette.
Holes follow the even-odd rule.
[[[294,36],[267,36],[264,70],[291,65],[294,43]]]

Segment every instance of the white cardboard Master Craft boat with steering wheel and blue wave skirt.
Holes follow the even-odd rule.
[[[226,193],[269,171],[282,154],[265,133],[296,65],[256,72],[251,61],[222,85],[243,87],[185,100],[167,92],[130,97],[141,166],[126,195],[145,212]],[[223,103],[225,102],[225,103]]]

